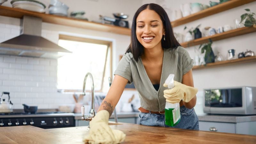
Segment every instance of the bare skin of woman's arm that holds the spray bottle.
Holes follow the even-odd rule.
[[[182,76],[182,84],[185,84],[187,86],[191,86],[191,87],[194,87],[194,81],[193,81],[193,76],[192,76],[192,70],[189,70],[185,75]],[[194,108],[195,105],[196,105],[196,96],[190,100],[189,102],[183,102],[183,105],[186,107],[186,108]]]

